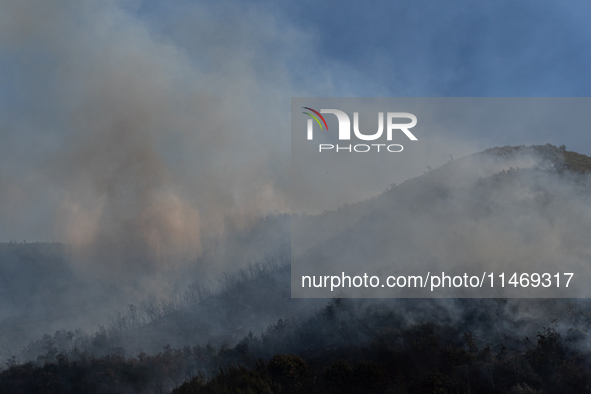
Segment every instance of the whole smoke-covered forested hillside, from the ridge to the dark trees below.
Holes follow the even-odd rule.
[[[591,158],[565,147],[493,148],[450,160],[372,199],[291,220],[306,229],[298,242],[339,250],[343,258],[356,253],[346,241],[350,234],[389,231],[384,217],[410,212],[431,215],[433,233],[442,239],[471,236],[462,233],[468,219],[489,225],[494,218],[532,245],[559,240],[554,244],[565,258],[572,252],[584,259],[589,218],[584,210],[563,208],[591,206],[589,172]],[[442,225],[456,223],[455,230],[439,230],[438,217]],[[292,299],[289,219],[261,219],[211,246],[203,264],[237,262],[217,282],[187,273],[184,282],[191,284],[172,294],[116,307],[124,293],[82,280],[67,246],[1,244],[1,391],[591,391],[588,299]],[[440,260],[473,258],[467,244],[453,239],[455,248],[425,252]],[[497,256],[511,256],[510,246],[503,244],[506,254]],[[93,300],[97,310],[111,308],[110,317],[98,328],[79,329],[76,317],[92,315]]]

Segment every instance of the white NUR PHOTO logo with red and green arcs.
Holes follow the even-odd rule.
[[[312,109],[310,107],[302,107],[310,112],[302,112],[305,115],[310,116],[311,119],[308,119],[307,124],[307,138],[308,140],[314,139],[314,121],[320,126],[320,130],[328,131],[328,124],[326,120],[322,116],[322,114],[333,114],[337,117],[337,121],[339,122],[339,140],[340,141],[348,141],[351,140],[351,119],[349,115],[345,112],[338,110],[338,109],[321,109],[320,112]],[[407,119],[410,122],[400,123],[400,119]],[[322,122],[321,122],[322,120]],[[324,127],[323,127],[324,124]],[[387,112],[386,114],[386,139],[388,141],[392,141],[392,137],[395,131],[401,131],[406,135],[411,141],[418,141],[417,137],[409,130],[416,126],[417,124],[417,117],[408,112]],[[378,138],[382,137],[384,134],[384,113],[378,112],[378,131],[373,134],[363,134],[359,130],[359,112],[353,112],[353,133],[355,137],[362,141],[375,141]],[[328,151],[328,150],[335,150],[336,152],[339,151],[348,151],[348,152],[369,152],[372,150],[372,147],[375,147],[378,152],[380,152],[381,147],[386,147],[388,152],[402,152],[404,149],[400,144],[357,144],[357,145],[345,145],[339,146],[338,144],[320,144],[319,145],[319,152]]]

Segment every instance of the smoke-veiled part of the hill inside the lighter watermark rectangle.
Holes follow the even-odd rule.
[[[564,272],[577,277],[567,293],[534,288],[499,292],[489,284],[476,296],[587,297],[591,249],[584,234],[591,229],[591,200],[583,173],[588,165],[586,156],[551,145],[496,148],[454,160],[371,200],[320,215],[314,227],[296,222],[294,278],[367,273],[381,277],[383,284],[388,275],[427,272],[554,272],[560,262]],[[312,240],[322,242],[309,250]],[[292,288],[297,296],[335,294],[324,287],[304,290],[299,282]],[[429,286],[338,289],[349,297],[474,292],[460,291],[431,292]]]

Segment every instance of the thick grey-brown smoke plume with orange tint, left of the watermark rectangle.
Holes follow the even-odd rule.
[[[295,33],[197,4],[160,34],[139,7],[0,2],[15,97],[0,237],[65,241],[78,266],[117,279],[174,271],[228,224],[287,207],[285,98],[269,100],[289,89],[287,55],[267,47],[289,53]]]

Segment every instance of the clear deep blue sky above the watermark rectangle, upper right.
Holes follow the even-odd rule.
[[[166,34],[166,26],[194,3],[171,9],[146,1],[135,11]],[[588,96],[591,88],[591,7],[583,1],[567,7],[560,1],[471,0],[249,1],[219,7],[256,10],[309,32],[314,56],[308,63],[321,70],[335,63],[350,69],[358,84],[351,86],[344,73],[332,78],[356,95],[374,96],[368,85],[396,96]],[[244,15],[258,23],[253,14]],[[298,67],[292,72],[311,77]]]

